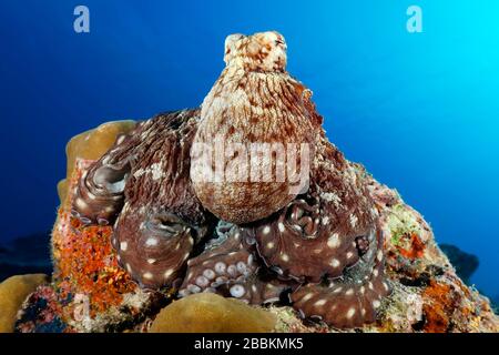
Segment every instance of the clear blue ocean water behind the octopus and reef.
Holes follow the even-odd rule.
[[[79,4],[90,33],[73,31]],[[227,34],[278,30],[330,140],[478,255],[472,281],[499,294],[498,18],[496,0],[2,0],[0,239],[50,229],[71,136],[198,105]]]

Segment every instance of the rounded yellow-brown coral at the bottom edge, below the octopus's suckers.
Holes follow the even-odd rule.
[[[267,333],[276,316],[211,293],[195,294],[163,308],[151,333]]]

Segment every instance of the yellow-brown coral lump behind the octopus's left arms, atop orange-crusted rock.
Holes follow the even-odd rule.
[[[100,159],[115,142],[118,135],[129,133],[135,128],[134,121],[114,121],[99,125],[94,130],[90,130],[73,136],[65,146],[68,156],[67,179],[58,184],[59,199],[65,200],[68,192],[68,179],[75,168],[77,159],[98,160]]]

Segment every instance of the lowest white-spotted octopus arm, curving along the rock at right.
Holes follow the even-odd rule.
[[[381,298],[391,292],[384,275],[380,230],[368,236],[369,248],[342,278],[328,284],[307,284],[291,295],[304,317],[339,328],[358,327],[376,320]],[[379,247],[379,248],[378,248]]]

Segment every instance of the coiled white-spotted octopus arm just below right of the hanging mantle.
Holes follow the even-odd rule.
[[[357,263],[357,245],[328,222],[317,199],[304,197],[255,225],[258,254],[284,278],[339,277],[345,267]]]

